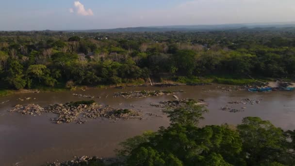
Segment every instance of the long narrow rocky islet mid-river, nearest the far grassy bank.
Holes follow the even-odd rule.
[[[183,91],[170,91],[170,90],[144,90],[144,91],[131,91],[131,92],[118,92],[114,94],[114,97],[123,97],[123,98],[146,98],[150,96],[163,96],[171,95],[175,93],[182,93]]]

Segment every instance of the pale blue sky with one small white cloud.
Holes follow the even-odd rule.
[[[0,31],[295,22],[295,0],[0,0]]]

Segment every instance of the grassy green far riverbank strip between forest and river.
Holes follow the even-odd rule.
[[[148,79],[149,80],[149,79]],[[276,80],[272,78],[239,78],[234,76],[216,76],[216,75],[208,75],[206,77],[184,77],[184,76],[176,76],[176,77],[161,77],[157,79],[151,79],[152,81],[149,82],[148,80],[144,81],[143,79],[131,80],[127,81],[127,83],[118,83],[118,84],[108,84],[108,85],[96,85],[96,86],[58,86],[58,87],[46,87],[41,86],[35,89],[21,89],[21,90],[10,90],[10,89],[3,89],[0,90],[0,97],[9,96],[13,94],[22,94],[22,93],[36,93],[36,92],[63,92],[63,91],[75,91],[75,90],[82,90],[85,91],[87,89],[106,89],[106,88],[124,88],[126,86],[135,87],[135,86],[150,86],[159,84],[177,84],[177,85],[204,85],[210,83],[216,84],[227,84],[227,85],[236,85],[241,86],[252,86],[261,83],[269,84],[270,87],[275,87]],[[290,80],[288,80],[290,82]]]

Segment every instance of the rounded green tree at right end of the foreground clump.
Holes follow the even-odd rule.
[[[237,129],[243,141],[243,153],[247,156],[246,161],[249,166],[271,161],[284,164],[288,161],[286,159],[292,156],[286,153],[289,150],[286,146],[288,142],[282,129],[259,117],[245,117],[242,122],[243,124],[238,125]]]

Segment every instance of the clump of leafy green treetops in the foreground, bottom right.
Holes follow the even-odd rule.
[[[189,102],[192,106],[195,102]],[[200,110],[200,109],[198,109]],[[118,150],[128,166],[291,166],[295,154],[288,134],[269,121],[246,117],[237,130],[228,125],[198,128],[199,114],[175,109],[171,126],[128,139]],[[168,114],[171,112],[168,112]],[[169,114],[169,116],[175,115]],[[192,120],[188,117],[195,116]]]

